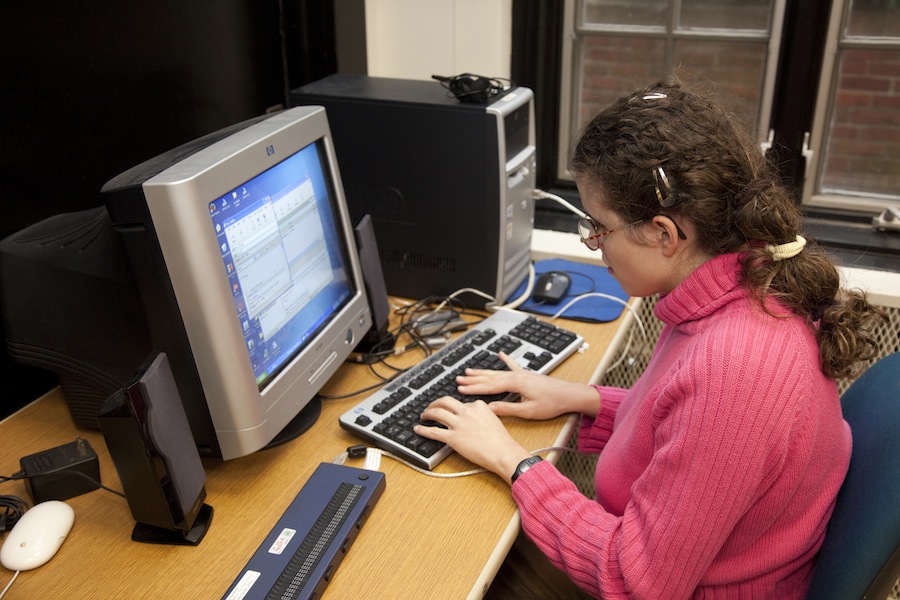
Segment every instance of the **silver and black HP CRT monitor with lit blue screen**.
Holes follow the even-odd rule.
[[[317,392],[372,322],[325,110],[189,142],[101,195],[145,321],[137,329],[168,356],[201,455],[236,458],[305,430]],[[66,322],[54,327],[66,336]],[[123,343],[143,345],[94,336],[110,360]]]

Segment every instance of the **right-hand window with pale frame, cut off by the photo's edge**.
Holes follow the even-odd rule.
[[[900,11],[896,0],[835,0],[804,200],[882,209],[900,200]]]

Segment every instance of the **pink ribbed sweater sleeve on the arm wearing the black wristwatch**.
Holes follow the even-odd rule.
[[[723,382],[706,368],[673,368],[660,379],[641,415],[650,421],[652,456],[630,487],[624,514],[585,498],[549,463],[515,482],[512,493],[525,532],[590,593],[606,600],[690,597],[777,473],[792,415],[764,399],[795,393],[772,389],[773,382],[785,381],[775,371],[789,369],[790,361],[781,363],[784,369],[773,369],[770,361],[763,377],[745,357],[729,357],[728,348],[713,352],[718,356],[685,359],[694,365],[718,362],[716,373],[741,376]],[[597,427],[595,421],[590,431]],[[734,568],[736,577],[754,576],[741,572],[746,563]]]

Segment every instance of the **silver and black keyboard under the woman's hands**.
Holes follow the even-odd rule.
[[[574,353],[584,338],[526,313],[502,310],[456,338],[340,417],[340,425],[376,447],[431,470],[453,451],[416,435],[422,411],[441,396],[462,401],[515,401],[514,394],[465,396],[456,377],[466,368],[506,370],[505,352],[519,365],[549,373]]]

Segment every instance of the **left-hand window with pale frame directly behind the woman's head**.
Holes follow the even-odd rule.
[[[560,178],[586,120],[673,73],[714,86],[767,139],[784,0],[567,0],[565,11]]]

